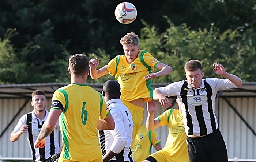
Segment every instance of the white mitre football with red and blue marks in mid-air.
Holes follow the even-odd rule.
[[[117,21],[122,24],[130,24],[137,17],[137,9],[129,2],[122,2],[117,5],[115,10],[115,16]]]

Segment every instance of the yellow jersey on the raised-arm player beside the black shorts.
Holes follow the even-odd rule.
[[[176,161],[176,162],[189,162],[188,150],[186,144],[187,135],[184,129],[183,117],[180,110],[169,109],[158,116],[158,120],[162,126],[168,125],[169,134],[166,140],[165,147],[161,152],[164,152],[164,159],[161,155],[154,157],[157,161]],[[155,154],[155,153],[154,153]],[[154,155],[153,154],[153,155]],[[168,159],[166,159],[168,158]],[[170,160],[169,160],[170,159]]]

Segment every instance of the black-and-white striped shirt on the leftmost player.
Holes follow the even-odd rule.
[[[59,129],[59,124],[57,123],[54,127],[53,132],[48,136],[45,137],[45,143],[46,146],[44,148],[35,148],[34,143],[37,139],[37,136],[40,133],[40,130],[42,128],[42,125],[44,124],[44,121],[46,120],[49,112],[47,110],[45,118],[43,120],[37,118],[34,114],[34,110],[32,112],[29,112],[25,115],[23,115],[20,119],[17,125],[15,126],[14,130],[12,132],[17,132],[20,130],[20,128],[23,125],[29,125],[28,131],[26,132],[27,140],[29,141],[29,146],[31,149],[31,154],[33,156],[33,161],[35,162],[44,162],[46,159],[50,158],[53,154],[56,154],[59,152],[59,143],[57,141],[57,129]]]

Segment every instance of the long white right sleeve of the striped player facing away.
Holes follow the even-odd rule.
[[[110,150],[113,153],[118,154],[124,149],[125,145],[127,144],[127,133],[124,128],[122,116],[119,114],[121,112],[119,112],[115,108],[112,108],[110,112],[116,125],[114,130],[110,130],[110,133],[114,137],[114,141],[110,146]]]

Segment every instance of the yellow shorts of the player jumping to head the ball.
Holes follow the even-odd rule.
[[[136,106],[134,104],[131,104],[127,101],[122,100],[124,105],[128,108],[128,110],[132,114],[132,121],[133,121],[133,133],[132,133],[132,139],[135,139],[139,129],[140,125],[142,124],[143,121],[143,110],[144,108]]]

